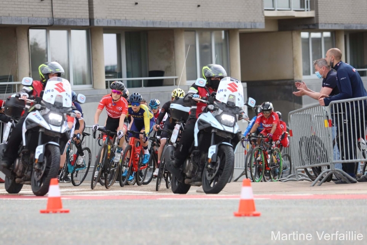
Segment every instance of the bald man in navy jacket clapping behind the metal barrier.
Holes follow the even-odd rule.
[[[326,60],[328,65],[337,71],[337,86],[340,93],[335,96],[321,95],[318,98],[318,102],[321,106],[328,106],[331,101],[335,100],[367,97],[367,92],[363,86],[361,76],[356,69],[341,61],[342,52],[339,49],[329,49],[326,52]],[[346,108],[343,109],[344,114],[341,116],[341,122],[346,123],[343,123],[343,127],[340,127],[340,129],[343,130],[343,140],[347,140],[347,142],[342,142],[342,146],[346,148],[346,152],[343,152],[343,148],[341,149],[343,160],[355,159],[353,150],[358,147],[357,139],[361,136],[365,138],[366,124],[364,118],[367,118],[367,110],[364,112],[363,108],[367,109],[366,106],[366,100],[363,100],[356,103],[350,103],[350,106],[346,106]],[[334,122],[335,121],[334,117]],[[357,136],[357,138],[355,136]],[[351,177],[355,178],[355,163],[343,164],[343,170]],[[363,176],[363,178],[366,179],[365,176]],[[340,180],[335,183],[343,184],[346,182]]]

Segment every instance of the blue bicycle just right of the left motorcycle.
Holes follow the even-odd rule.
[[[80,144],[83,144],[84,141],[84,137],[85,136],[90,136],[90,133],[87,132],[83,132],[82,133],[83,137],[80,140]],[[83,181],[85,180],[85,178],[88,175],[89,172],[89,168],[91,166],[91,160],[92,160],[92,153],[91,150],[89,149],[89,147],[84,147],[82,148],[82,151],[84,153],[84,156],[87,157],[88,156],[88,160],[86,160],[84,158],[84,163],[81,165],[75,164],[76,160],[79,157],[79,152],[76,151],[76,154],[71,155],[71,153],[73,153],[72,145],[74,145],[74,142],[72,141],[70,143],[70,145],[68,146],[68,149],[66,150],[66,161],[64,164],[64,167],[61,169],[61,172],[59,174],[59,179],[64,179],[66,176],[68,176],[69,173],[72,173],[71,175],[71,181],[73,186],[79,186],[81,185],[81,183],[83,183]],[[86,151],[86,152],[84,152]],[[88,164],[86,164],[88,163]],[[79,178],[80,177],[80,178]]]

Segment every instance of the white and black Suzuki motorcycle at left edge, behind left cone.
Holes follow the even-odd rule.
[[[22,84],[31,86],[33,79],[24,77]],[[25,109],[23,123],[23,144],[19,147],[18,157],[10,169],[0,166],[5,174],[5,190],[10,194],[19,193],[24,184],[31,185],[36,196],[44,196],[49,191],[51,178],[56,178],[60,169],[60,155],[70,143],[70,129],[67,115],[72,112],[71,86],[68,80],[53,77],[48,80],[42,98],[29,97],[24,101],[12,96],[5,101],[5,115],[19,120]],[[78,95],[83,100],[83,95]],[[14,124],[8,123],[3,142],[0,144],[0,157],[6,147]]]

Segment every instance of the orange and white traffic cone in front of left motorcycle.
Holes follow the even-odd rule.
[[[47,208],[46,210],[40,210],[40,213],[69,213],[69,209],[62,209],[59,182],[56,178],[51,179],[49,183]]]

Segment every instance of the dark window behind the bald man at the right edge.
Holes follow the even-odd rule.
[[[367,62],[365,62],[366,35],[363,32],[347,33],[345,35],[346,62],[354,67],[361,76],[367,75]]]

